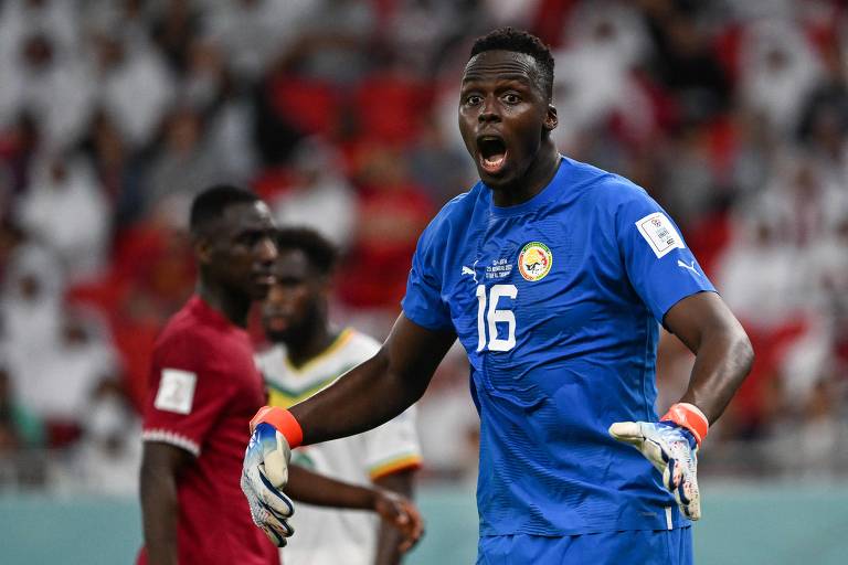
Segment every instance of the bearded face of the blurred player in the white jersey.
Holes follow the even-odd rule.
[[[322,305],[327,281],[300,249],[282,249],[274,263],[276,282],[262,308],[265,334],[273,342],[306,338],[309,328],[326,323]]]

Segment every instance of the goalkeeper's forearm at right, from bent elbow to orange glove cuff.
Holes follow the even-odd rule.
[[[754,354],[742,328],[710,332],[697,344],[689,386],[680,402],[698,406],[710,424],[751,371]]]

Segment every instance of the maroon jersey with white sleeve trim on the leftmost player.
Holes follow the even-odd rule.
[[[278,563],[240,487],[248,423],[264,403],[247,332],[192,297],[157,341],[142,435],[197,458],[177,486],[180,564]]]

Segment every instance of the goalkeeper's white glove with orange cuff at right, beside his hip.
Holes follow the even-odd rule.
[[[701,518],[698,491],[698,447],[709,424],[691,404],[676,404],[660,422],[616,422],[610,435],[630,444],[662,475],[662,484],[675,495],[680,511],[690,520]]]

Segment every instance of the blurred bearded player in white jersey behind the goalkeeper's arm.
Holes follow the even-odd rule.
[[[307,228],[277,236],[276,284],[263,307],[266,335],[274,343],[257,356],[268,404],[287,408],[326,387],[380,349],[352,328],[328,320],[328,295],[337,253]],[[414,408],[352,437],[297,449],[293,463],[341,481],[374,486],[412,498],[421,466]],[[297,473],[286,492],[298,499]],[[304,500],[304,502],[309,502]],[[286,565],[388,565],[400,563],[403,536],[363,511],[300,505],[292,520],[297,536],[284,550]]]

